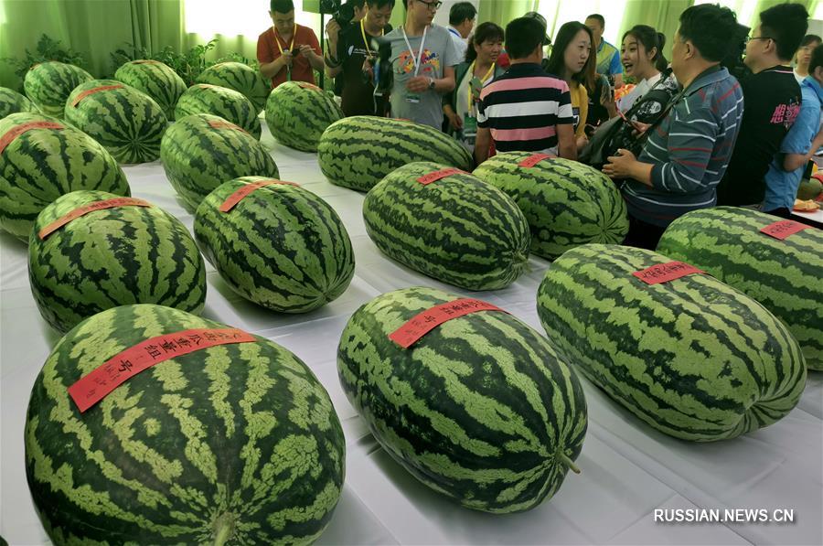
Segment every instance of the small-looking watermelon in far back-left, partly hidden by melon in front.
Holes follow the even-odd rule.
[[[36,64],[27,71],[23,89],[40,111],[62,119],[71,91],[80,83],[93,79],[89,72],[80,67],[49,60]]]

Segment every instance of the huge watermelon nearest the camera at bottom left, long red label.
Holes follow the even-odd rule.
[[[311,370],[272,341],[160,361],[83,413],[69,398],[70,385],[123,350],[194,328],[225,326],[124,305],[52,350],[24,441],[28,487],[55,544],[308,544],[326,528],[343,486],[343,432]]]

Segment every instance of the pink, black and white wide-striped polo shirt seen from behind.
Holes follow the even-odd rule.
[[[556,153],[557,125],[573,123],[569,86],[539,64],[513,64],[480,92],[477,126],[489,130],[498,152]]]

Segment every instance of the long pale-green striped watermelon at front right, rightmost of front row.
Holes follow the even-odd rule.
[[[683,440],[734,438],[795,407],[806,365],[762,305],[705,274],[646,284],[670,259],[586,244],[552,263],[538,314],[558,353],[614,401]]]

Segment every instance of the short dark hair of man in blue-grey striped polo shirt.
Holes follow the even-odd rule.
[[[678,34],[689,40],[703,59],[720,62],[732,48],[730,38],[737,30],[737,18],[728,7],[717,4],[692,5],[680,14]]]

